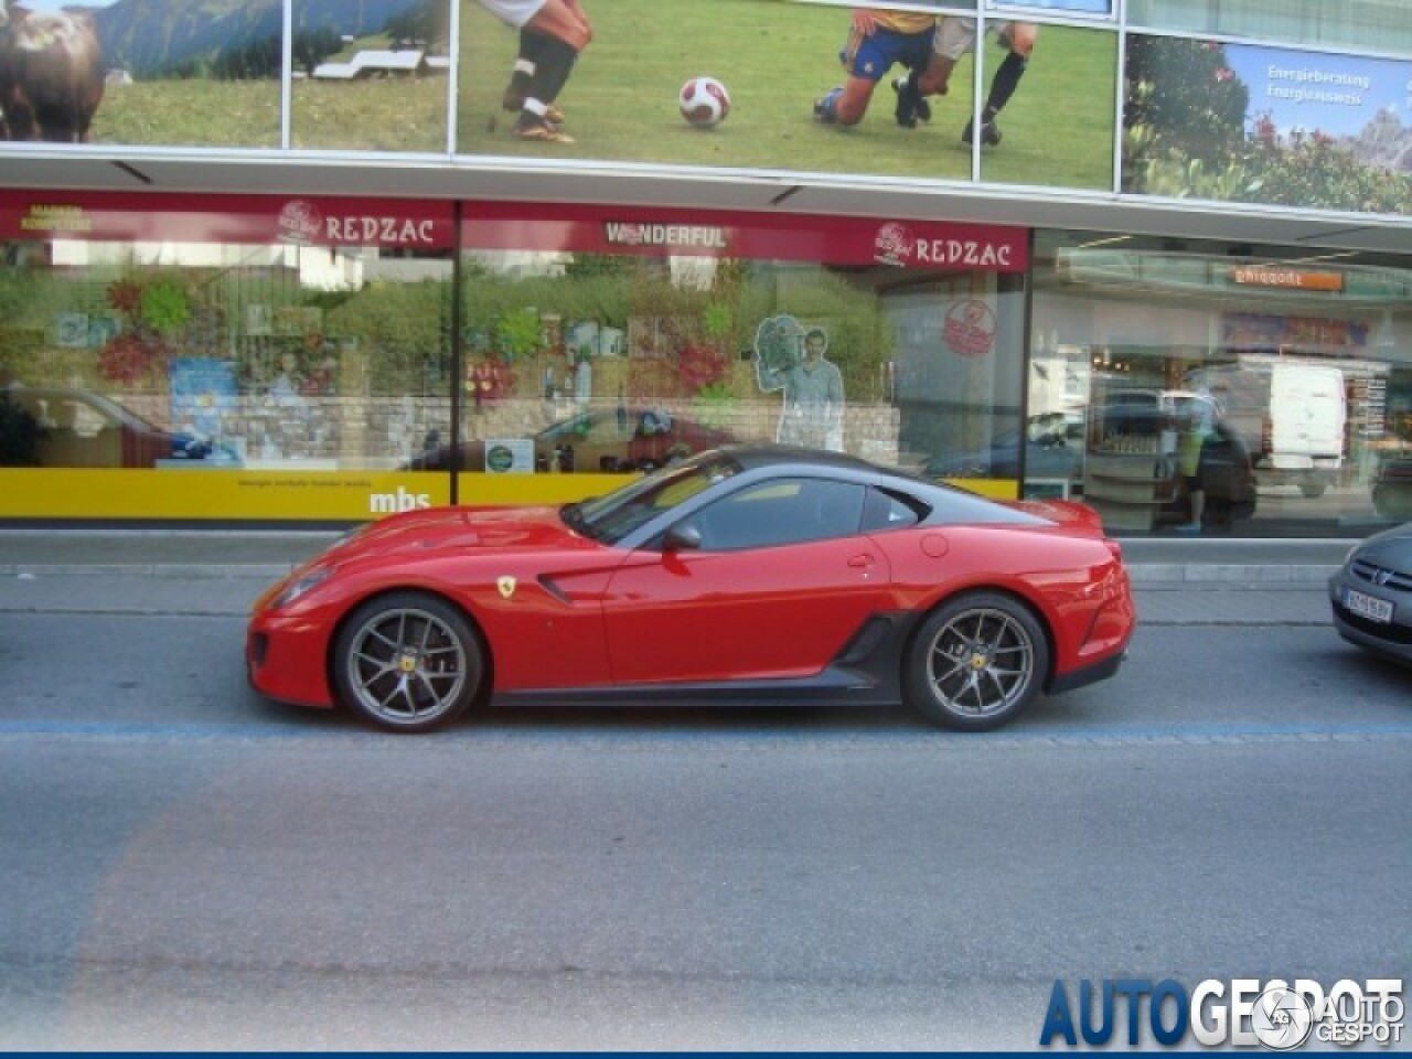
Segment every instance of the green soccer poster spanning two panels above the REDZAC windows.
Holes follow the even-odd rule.
[[[520,34],[480,3],[462,7],[457,154],[971,179],[963,130],[974,42],[960,48],[946,95],[929,95],[925,112],[898,120],[895,82],[909,66],[925,71],[943,16],[875,10],[874,25],[895,25],[908,40],[894,38],[850,78],[840,52],[857,13],[871,8],[764,0],[583,7],[587,44],[562,88],[539,100],[545,113],[531,117],[525,82],[515,78],[525,61]],[[1111,38],[1043,27],[1000,120],[1004,141],[983,147],[995,179],[1111,186]],[[1004,49],[994,32],[984,47],[998,68]],[[866,83],[850,88],[850,79]],[[842,116],[826,103],[834,89],[850,93]]]

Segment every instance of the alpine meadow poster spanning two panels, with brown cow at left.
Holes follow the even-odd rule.
[[[287,0],[25,0],[11,47],[61,68],[72,104],[7,114],[8,138],[281,147]],[[292,0],[291,144],[448,145],[449,0]],[[35,73],[34,76],[38,76]]]

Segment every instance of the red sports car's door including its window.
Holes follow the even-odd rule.
[[[822,479],[746,486],[688,518],[699,548],[642,549],[604,604],[616,683],[808,678],[887,606],[863,534],[866,489]]]

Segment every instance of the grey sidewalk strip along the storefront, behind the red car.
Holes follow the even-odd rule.
[[[244,614],[326,530],[0,530],[0,611]],[[1145,626],[1323,626],[1353,541],[1123,541]]]

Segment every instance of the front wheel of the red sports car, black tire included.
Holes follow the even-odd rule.
[[[339,702],[387,731],[450,724],[486,681],[480,637],[436,596],[398,592],[349,616],[333,647]]]

